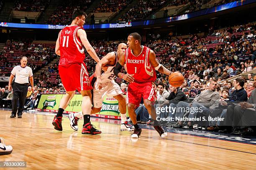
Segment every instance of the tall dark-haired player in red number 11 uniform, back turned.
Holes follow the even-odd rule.
[[[84,63],[83,46],[96,62],[99,62],[100,59],[87,40],[86,32],[83,29],[86,17],[87,15],[83,11],[74,11],[71,25],[59,32],[59,37],[56,41],[55,52],[61,56],[59,60],[59,75],[66,94],[60,101],[58,113],[54,117],[52,124],[54,129],[62,131],[62,114],[69,101],[74,97],[75,90],[77,89],[83,96],[82,111],[84,113],[84,125],[82,134],[100,134],[101,131],[95,129],[90,123],[92,105],[90,90],[92,90],[92,85]]]

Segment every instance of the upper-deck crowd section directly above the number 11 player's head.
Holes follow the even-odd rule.
[[[46,23],[54,25],[70,24],[75,10],[85,11],[91,4],[92,0],[64,0],[59,7],[56,7]]]

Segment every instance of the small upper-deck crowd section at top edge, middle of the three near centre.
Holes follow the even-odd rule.
[[[132,0],[102,0],[98,6],[93,9],[93,13],[119,13],[127,7],[131,1]]]

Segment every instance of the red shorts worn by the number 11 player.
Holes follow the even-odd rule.
[[[82,90],[92,90],[89,74],[84,62],[73,63],[71,65],[59,65],[59,75],[61,82],[67,92]]]

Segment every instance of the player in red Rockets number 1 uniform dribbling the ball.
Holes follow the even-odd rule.
[[[139,138],[141,128],[139,128],[135,107],[138,107],[143,97],[144,105],[154,120],[154,128],[161,137],[166,137],[166,130],[156,120],[156,110],[153,102],[156,98],[156,92],[152,82],[156,80],[156,71],[170,75],[171,71],[167,70],[163,65],[156,60],[156,55],[153,50],[141,45],[141,36],[137,33],[131,33],[127,41],[128,48],[125,54],[120,56],[115,65],[114,74],[117,77],[123,78],[129,82],[126,93],[126,102],[128,113],[135,127],[131,138]],[[127,74],[120,72],[123,65],[126,64]]]

